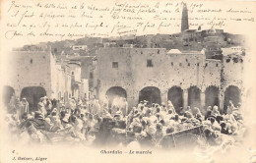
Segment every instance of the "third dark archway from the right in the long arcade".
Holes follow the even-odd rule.
[[[188,106],[201,107],[201,90],[197,86],[191,86],[188,88]]]

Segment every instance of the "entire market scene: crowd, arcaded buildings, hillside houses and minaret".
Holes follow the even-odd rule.
[[[250,48],[243,35],[190,29],[15,48],[4,86],[12,138],[174,149],[242,143]]]

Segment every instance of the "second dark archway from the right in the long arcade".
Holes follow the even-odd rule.
[[[217,86],[209,86],[205,91],[205,106],[219,106],[219,89]]]

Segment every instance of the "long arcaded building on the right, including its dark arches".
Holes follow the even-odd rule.
[[[244,56],[231,54],[222,61],[206,59],[204,51],[162,48],[101,48],[97,55],[96,88],[100,100],[123,96],[132,106],[172,101],[181,107],[237,106],[245,93]]]

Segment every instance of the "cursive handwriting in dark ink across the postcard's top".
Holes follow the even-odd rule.
[[[6,39],[122,36],[180,31],[183,2],[112,1],[111,3],[10,1],[5,5]],[[236,5],[237,6],[237,5]],[[224,28],[230,23],[253,23],[253,10],[187,3],[189,27]]]

